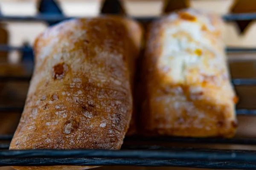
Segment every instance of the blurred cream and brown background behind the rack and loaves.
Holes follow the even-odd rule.
[[[46,4],[52,3],[49,8]],[[221,16],[232,13],[256,12],[256,0],[0,0],[0,133],[13,134],[29,87],[33,58],[31,48],[35,37],[54,21],[13,20],[16,16],[35,17],[56,14],[65,17],[93,17],[101,12],[113,11],[116,6],[122,14],[131,17],[159,17],[181,8],[199,8]],[[120,11],[121,10],[121,11]],[[147,23],[144,23],[145,28]],[[225,23],[224,42],[228,47],[256,49],[256,20]],[[9,45],[9,46],[6,46]],[[20,50],[21,49],[21,50]],[[256,50],[229,53],[232,78],[256,78]],[[9,77],[9,78],[8,78]],[[10,78],[11,77],[11,78]],[[13,77],[13,79],[12,79]],[[20,77],[24,81],[14,78]],[[256,109],[256,87],[236,87],[240,101],[238,108]],[[4,110],[3,108],[12,108]],[[239,116],[239,137],[256,137],[256,117]],[[236,148],[256,150],[254,146],[192,145],[196,147]],[[100,167],[106,169],[169,170],[153,167]],[[0,170],[11,169],[0,167]],[[175,168],[173,168],[175,169]],[[177,169],[177,168],[176,168]],[[178,168],[191,169],[192,168]]]

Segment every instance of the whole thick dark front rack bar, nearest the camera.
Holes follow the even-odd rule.
[[[165,148],[163,150],[9,150],[0,152],[0,166],[134,165],[255,169],[255,155],[256,152],[247,150],[185,148]]]

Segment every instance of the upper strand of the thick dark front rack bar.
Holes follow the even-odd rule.
[[[254,161],[256,151],[251,150],[220,150],[180,147],[159,147],[157,150],[9,150],[0,152],[0,159],[40,158],[139,158],[139,159],[198,159],[216,161]],[[195,158],[192,152],[197,151]],[[221,153],[221,154],[220,154]]]

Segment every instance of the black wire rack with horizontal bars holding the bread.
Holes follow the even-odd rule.
[[[108,10],[107,2],[111,3]],[[119,14],[121,4],[118,0],[106,0],[102,13]],[[49,25],[67,20],[52,0],[41,0],[39,14],[36,16],[5,16],[0,14],[0,21],[44,21]],[[135,18],[140,22],[149,22],[153,17]],[[256,20],[256,13],[227,14],[223,16],[227,22],[237,20]],[[29,46],[13,47],[1,45],[0,51],[20,51],[23,58],[33,59],[32,48]],[[256,48],[227,48],[229,53],[252,52]],[[9,77],[0,76],[0,82],[28,82],[31,76]],[[233,79],[233,85],[255,86],[256,79]],[[0,105],[0,113],[22,112],[23,107]],[[237,109],[237,115],[256,116],[256,110]],[[156,142],[152,145],[127,145],[121,150],[8,150],[12,135],[0,135],[0,166],[53,166],[53,165],[126,165],[126,166],[174,166],[198,167],[213,169],[256,169],[256,151],[251,150],[221,150],[198,149],[189,147],[163,147],[167,143],[195,144],[240,144],[256,145],[256,139],[223,139],[223,138],[182,138],[182,137],[126,137],[125,142]]]

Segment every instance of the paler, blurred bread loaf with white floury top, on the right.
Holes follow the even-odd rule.
[[[232,137],[237,97],[214,14],[177,11],[152,23],[143,62],[142,133]]]

